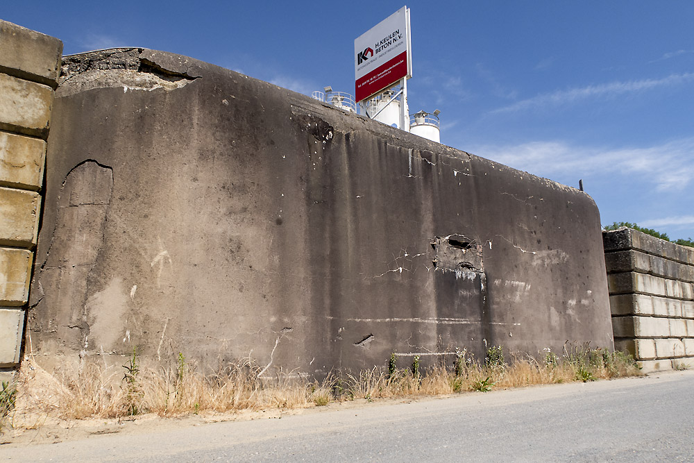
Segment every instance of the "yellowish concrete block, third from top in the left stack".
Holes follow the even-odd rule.
[[[38,191],[45,164],[46,142],[0,132],[0,186]]]

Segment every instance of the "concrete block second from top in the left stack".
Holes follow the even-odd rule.
[[[0,128],[46,135],[53,106],[51,87],[0,74],[0,96]]]

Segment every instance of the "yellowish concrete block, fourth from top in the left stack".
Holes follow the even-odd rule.
[[[40,207],[37,192],[0,187],[0,245],[36,244]]]

